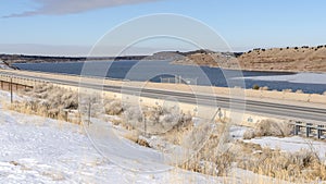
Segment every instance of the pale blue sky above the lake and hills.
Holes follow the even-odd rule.
[[[124,34],[141,34],[145,28],[158,28],[156,24],[161,24],[160,19],[149,22],[150,25],[130,24],[133,20],[165,13],[193,20],[195,24],[201,24],[197,26],[216,33],[224,42],[204,38],[205,33],[195,26],[186,29],[184,23],[165,26],[166,32],[191,33],[198,37],[196,44],[202,38],[199,45],[212,50],[326,44],[324,0],[0,0],[0,53],[85,56],[99,42],[109,44],[111,50],[121,50],[126,42],[121,45],[117,38],[128,36]],[[128,32],[117,35],[114,41],[105,37],[124,24],[130,25],[125,26]],[[191,41],[142,40],[134,42],[127,53],[196,49]],[[105,54],[112,53],[115,51]]]

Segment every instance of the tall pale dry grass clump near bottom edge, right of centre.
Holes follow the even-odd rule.
[[[208,128],[213,128],[213,131]],[[227,125],[217,123],[215,127],[212,127],[212,124],[208,124],[203,128],[196,130],[196,133],[191,133],[190,138],[185,138],[185,140],[192,142],[189,146],[198,150],[193,157],[179,167],[213,176],[227,175],[233,162],[236,161],[234,149],[231,149],[234,145],[229,135],[225,134]]]

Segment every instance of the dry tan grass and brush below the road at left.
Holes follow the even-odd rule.
[[[21,113],[36,114],[57,120],[68,121],[68,110],[78,110],[78,120],[73,123],[80,123],[80,114],[88,114],[89,103],[91,106],[91,116],[104,113],[109,115],[120,115],[124,109],[120,101],[105,99],[104,105],[100,95],[82,95],[53,85],[37,85],[33,89],[24,89],[20,91],[26,96],[25,100],[14,101],[7,108]],[[118,123],[118,122],[115,122]],[[120,123],[118,123],[120,124]]]

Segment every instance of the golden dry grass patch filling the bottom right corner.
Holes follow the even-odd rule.
[[[252,148],[239,143],[237,164],[259,174],[290,182],[316,182],[326,180],[326,165],[311,150],[284,152],[279,149]],[[251,152],[250,152],[251,151]]]

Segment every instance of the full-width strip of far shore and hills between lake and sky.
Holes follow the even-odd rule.
[[[47,57],[24,54],[0,54],[0,61],[13,63],[58,63],[85,61],[172,61],[171,64],[200,65],[224,70],[251,72],[326,72],[326,45],[317,47],[256,48],[247,52],[216,52],[196,50],[188,52],[161,51],[152,56],[123,57]]]

